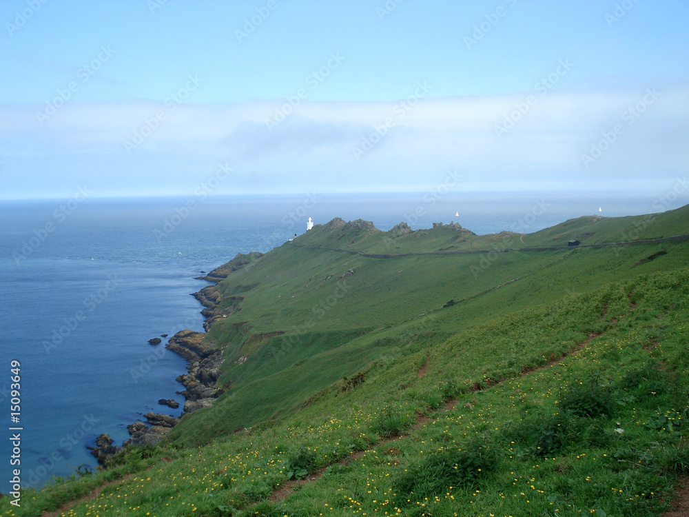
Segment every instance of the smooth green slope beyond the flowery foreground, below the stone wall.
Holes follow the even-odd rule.
[[[683,220],[684,212],[659,214],[646,221],[665,221],[671,229],[654,230],[656,236],[675,234],[681,223],[686,233],[689,225]],[[635,221],[639,225],[644,219]],[[558,234],[566,242],[571,236],[565,229],[568,223],[551,232],[544,230],[544,235],[552,239],[552,234]],[[596,224],[598,238],[610,240],[606,232],[617,235],[619,228],[629,223],[604,219]],[[351,241],[358,239],[361,246],[370,246],[359,249],[369,252],[387,236],[387,232],[357,228],[327,232],[323,226],[312,232],[294,242],[353,247]],[[413,241],[418,249],[423,243],[426,249],[434,249],[445,247],[458,234],[462,239],[502,242],[499,236],[472,237],[448,228],[413,232],[398,240]],[[531,241],[536,235],[524,240]],[[635,265],[658,250],[668,253]],[[216,323],[209,333],[220,346],[227,344],[221,382],[229,389],[214,407],[185,417],[171,438],[200,445],[214,436],[284,416],[311,394],[342,376],[356,374],[380,356],[415,352],[421,346],[418,339],[409,339],[418,334],[415,327],[422,327],[424,346],[440,343],[462,329],[508,314],[514,307],[532,307],[644,272],[671,270],[686,263],[688,252],[689,243],[670,242],[374,259],[286,243],[218,285],[225,296],[245,289],[239,286],[256,286],[242,292],[242,309]],[[356,273],[338,280],[350,269]],[[452,307],[442,308],[451,300],[455,302]],[[245,333],[237,336],[234,326],[241,322],[250,322],[251,328],[245,325]],[[285,334],[260,338],[278,331]],[[244,357],[245,362],[236,363]],[[198,425],[202,420],[204,425]]]

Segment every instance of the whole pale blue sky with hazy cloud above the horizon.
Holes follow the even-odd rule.
[[[2,0],[0,199],[686,185],[686,0]]]

